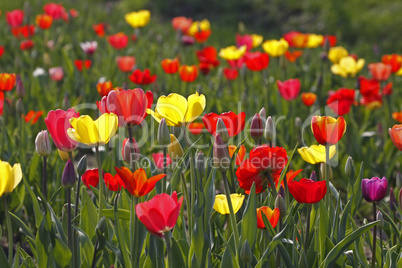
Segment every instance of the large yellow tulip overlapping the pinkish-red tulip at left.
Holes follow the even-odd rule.
[[[88,146],[105,145],[116,133],[118,119],[113,113],[104,113],[95,121],[88,115],[71,118],[72,128],[67,129],[68,136]]]

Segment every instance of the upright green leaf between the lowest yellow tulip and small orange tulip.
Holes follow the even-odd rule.
[[[257,238],[257,201],[255,197],[255,183],[251,186],[246,209],[241,221],[241,237],[239,245],[248,240],[251,250],[254,251]],[[237,249],[240,250],[240,249]]]

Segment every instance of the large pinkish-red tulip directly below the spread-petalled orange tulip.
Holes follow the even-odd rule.
[[[136,205],[135,213],[151,234],[163,237],[175,226],[182,203],[183,197],[178,201],[176,191],[172,196],[158,194],[150,201]]]

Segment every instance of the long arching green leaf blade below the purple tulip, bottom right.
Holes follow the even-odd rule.
[[[329,267],[334,261],[336,261],[339,256],[346,250],[346,248],[352,244],[356,239],[358,239],[362,234],[370,230],[372,227],[380,223],[380,221],[371,222],[367,225],[361,226],[357,230],[353,231],[351,234],[346,236],[341,242],[336,244],[336,246],[328,253],[324,262],[321,263],[320,267]]]

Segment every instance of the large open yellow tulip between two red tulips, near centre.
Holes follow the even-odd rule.
[[[160,96],[155,111],[147,109],[147,113],[158,121],[165,118],[168,126],[181,127],[193,122],[205,109],[205,96],[198,92],[186,98],[177,93]]]

